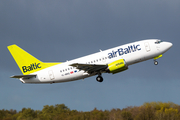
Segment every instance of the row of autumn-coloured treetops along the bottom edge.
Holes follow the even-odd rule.
[[[46,105],[43,109],[0,110],[0,120],[180,120],[180,106],[172,102],[150,102],[139,107],[94,110],[70,110],[64,104]]]

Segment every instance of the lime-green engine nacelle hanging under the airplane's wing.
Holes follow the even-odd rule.
[[[124,59],[116,60],[108,64],[108,71],[113,74],[122,72],[127,69],[128,69],[128,66],[126,65],[126,62]]]

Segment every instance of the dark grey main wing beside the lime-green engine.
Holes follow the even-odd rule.
[[[84,70],[90,74],[92,73],[101,73],[104,72],[108,65],[106,64],[80,64],[80,63],[73,63],[70,66],[76,67],[79,70]]]

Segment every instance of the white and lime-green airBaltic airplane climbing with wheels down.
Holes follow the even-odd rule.
[[[159,39],[141,40],[108,50],[57,63],[38,60],[17,45],[7,46],[23,75],[13,75],[22,83],[60,83],[84,79],[97,75],[98,82],[103,81],[102,73],[116,74],[128,69],[128,66],[157,59],[172,47],[172,43]]]

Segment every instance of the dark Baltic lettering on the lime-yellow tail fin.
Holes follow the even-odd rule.
[[[30,64],[29,66],[22,66],[22,69],[23,69],[23,72],[26,73],[28,71],[32,71],[32,70],[36,70],[38,68],[41,68],[41,66],[39,66],[40,63],[33,63],[33,64]]]

